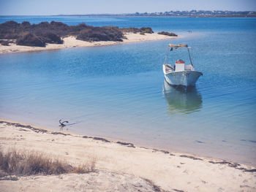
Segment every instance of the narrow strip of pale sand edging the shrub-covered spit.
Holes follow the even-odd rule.
[[[10,43],[10,46],[0,45],[0,54],[4,53],[19,53],[19,52],[31,52],[31,51],[41,51],[41,50],[58,50],[62,48],[70,47],[95,47],[95,46],[106,46],[106,45],[119,45],[124,43],[132,42],[145,42],[145,41],[154,41],[154,40],[163,40],[163,39],[173,39],[176,37],[170,37],[162,34],[125,34],[127,39],[124,39],[123,42],[85,42],[75,37],[65,37],[63,44],[48,44],[46,47],[30,47],[16,45],[15,43]]]

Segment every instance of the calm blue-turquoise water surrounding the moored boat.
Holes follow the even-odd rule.
[[[0,55],[0,117],[256,164],[256,19],[0,17],[141,27],[178,39]],[[187,33],[192,30],[192,34]],[[197,86],[165,83],[168,43],[192,46]],[[187,59],[187,52],[170,53]]]

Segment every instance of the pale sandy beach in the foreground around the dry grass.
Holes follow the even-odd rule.
[[[1,191],[256,191],[255,166],[137,146],[124,141],[0,122],[0,146],[81,164],[88,174],[34,175],[0,180]]]

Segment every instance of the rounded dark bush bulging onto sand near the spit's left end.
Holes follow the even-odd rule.
[[[35,34],[26,34],[23,37],[17,39],[17,45],[26,45],[34,47],[45,47],[45,41],[37,37]]]

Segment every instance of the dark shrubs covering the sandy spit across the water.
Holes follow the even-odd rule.
[[[115,26],[94,27],[80,23],[77,26],[68,26],[65,23],[52,21],[32,24],[28,21],[17,23],[13,20],[0,24],[0,44],[9,45],[16,42],[17,45],[45,47],[47,43],[63,44],[62,38],[75,36],[77,39],[87,42],[115,41],[122,42],[124,33],[153,34],[150,27],[142,28],[118,28]],[[165,32],[167,33],[167,32]],[[171,33],[172,34],[172,33]],[[170,35],[167,33],[167,35]],[[170,36],[175,36],[172,34]]]

